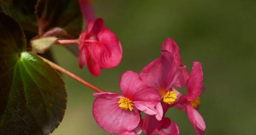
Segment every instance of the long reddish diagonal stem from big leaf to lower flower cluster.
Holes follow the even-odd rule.
[[[40,56],[41,57],[41,56]],[[51,65],[53,68],[55,68],[56,70],[59,70],[60,72],[64,73],[64,74],[67,74],[68,76],[70,76],[71,78],[81,82],[83,85],[85,86],[88,86],[89,88],[93,89],[94,91],[96,92],[104,92],[103,90],[101,90],[100,88],[88,83],[87,81],[81,79],[79,76],[69,72],[67,69],[65,68],[62,68],[61,66],[55,64],[54,62],[52,61],[49,61],[43,57],[41,57],[45,62],[47,62],[49,65]]]

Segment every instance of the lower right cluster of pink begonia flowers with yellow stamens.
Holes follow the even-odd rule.
[[[127,71],[121,76],[122,94],[94,93],[93,115],[102,129],[120,135],[138,135],[142,131],[147,135],[178,135],[178,125],[165,117],[169,108],[176,107],[186,111],[197,135],[204,134],[206,126],[197,111],[204,90],[201,63],[193,62],[189,74],[171,38],[162,44],[161,54],[140,74]],[[187,94],[175,87],[187,87]],[[144,119],[141,112],[146,114]]]

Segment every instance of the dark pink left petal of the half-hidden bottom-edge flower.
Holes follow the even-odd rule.
[[[142,130],[147,135],[155,135],[162,127],[163,119],[158,121],[155,116],[146,115],[142,126]]]

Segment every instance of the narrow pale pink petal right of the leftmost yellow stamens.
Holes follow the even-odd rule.
[[[134,101],[133,104],[138,110],[141,110],[141,111],[145,112],[148,115],[157,114],[157,111],[155,110],[154,106],[150,106],[150,105],[145,104],[144,102],[141,102],[141,101]]]

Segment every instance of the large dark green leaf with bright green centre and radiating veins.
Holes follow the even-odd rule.
[[[24,52],[18,23],[0,12],[0,135],[46,135],[60,124],[67,92],[60,75]]]

